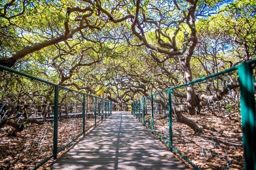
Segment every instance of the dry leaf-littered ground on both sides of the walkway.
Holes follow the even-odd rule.
[[[163,115],[159,114],[154,116],[155,131],[168,139],[168,118],[160,119]],[[209,125],[216,131],[204,129],[203,133],[196,134],[187,125],[173,120],[175,148],[202,169],[243,169],[242,132],[238,121],[235,121],[237,119],[235,115],[231,115],[232,119],[215,117],[210,112],[195,116],[184,114],[184,116],[199,125]],[[219,116],[224,114],[220,113]],[[146,120],[150,123],[150,116],[146,116]],[[94,119],[87,118],[86,127],[93,124]],[[52,155],[53,122],[46,122],[43,125],[25,124],[24,130],[18,132],[16,137],[8,137],[7,129],[8,127],[5,127],[0,131],[0,167],[2,169],[31,169],[38,162]],[[62,119],[58,122],[58,149],[80,133],[82,133],[82,118]],[[72,144],[74,143],[75,141]],[[62,150],[58,157],[72,144]],[[176,156],[180,157],[178,154]],[[184,159],[180,159],[184,162]],[[39,169],[43,169],[52,161],[53,159],[50,159]],[[191,167],[187,162],[184,163]]]

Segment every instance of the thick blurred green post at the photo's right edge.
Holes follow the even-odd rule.
[[[238,67],[240,85],[240,104],[243,129],[245,169],[256,169],[256,110],[253,70],[250,64],[242,63]]]

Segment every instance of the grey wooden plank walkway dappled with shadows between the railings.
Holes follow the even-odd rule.
[[[132,170],[186,167],[129,112],[113,112],[50,168]]]

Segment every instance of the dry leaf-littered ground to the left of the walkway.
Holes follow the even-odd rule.
[[[91,125],[94,125],[94,118],[87,118],[86,129]],[[0,169],[31,169],[53,154],[53,122],[45,122],[43,125],[25,124],[24,130],[17,132],[15,137],[8,137],[6,132],[8,128],[5,126],[0,131]],[[82,118],[59,121],[58,149],[81,134],[82,131]],[[58,156],[65,150],[62,150]],[[46,162],[43,167],[52,161],[53,159]]]

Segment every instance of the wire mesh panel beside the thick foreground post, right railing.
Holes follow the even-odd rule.
[[[237,72],[233,71],[191,84],[201,102],[194,115],[182,113],[180,109],[187,102],[182,98],[184,95],[180,95],[187,91],[187,87],[172,91],[173,146],[194,164],[200,162],[200,168],[243,169],[239,87],[231,85],[237,77]],[[221,89],[219,94],[217,89]],[[202,95],[204,91],[207,97]],[[213,95],[218,102],[213,103],[215,99],[210,99]]]

